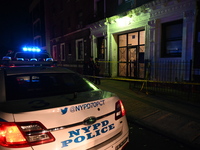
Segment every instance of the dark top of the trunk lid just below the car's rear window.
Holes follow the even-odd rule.
[[[111,92],[96,90],[51,97],[7,101],[0,104],[0,111],[7,113],[28,112],[85,103],[88,101],[106,99],[113,96],[116,95]]]

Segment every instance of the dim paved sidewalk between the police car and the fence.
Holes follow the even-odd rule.
[[[98,87],[120,97],[129,121],[200,148],[200,106],[133,92],[126,81],[103,79]]]

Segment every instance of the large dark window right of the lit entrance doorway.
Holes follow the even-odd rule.
[[[181,57],[183,20],[162,24],[162,57]]]

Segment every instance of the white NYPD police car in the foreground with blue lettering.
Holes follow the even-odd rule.
[[[0,150],[122,150],[129,142],[122,100],[67,68],[8,65],[0,80]]]

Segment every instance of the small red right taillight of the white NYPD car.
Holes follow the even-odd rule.
[[[121,100],[117,101],[115,104],[115,120],[123,117],[126,114],[124,105]]]

